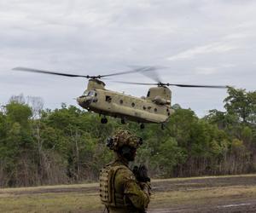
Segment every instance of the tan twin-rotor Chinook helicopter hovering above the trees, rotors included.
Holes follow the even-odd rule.
[[[87,89],[85,89],[83,95],[80,95],[77,98],[77,102],[80,107],[83,107],[89,112],[98,113],[102,117],[102,124],[107,124],[108,118],[106,118],[106,116],[111,116],[113,118],[121,118],[122,124],[125,124],[126,120],[135,121],[140,124],[141,129],[144,129],[145,123],[162,124],[163,128],[164,124],[168,121],[168,118],[173,112],[171,108],[172,92],[171,89],[168,88],[169,86],[188,88],[226,88],[226,86],[216,85],[162,83],[160,78],[158,78],[156,75],[153,76],[153,79],[157,83],[118,82],[138,85],[154,85],[154,87],[148,89],[148,94],[146,97],[138,98],[105,89],[105,83],[100,80],[101,78],[123,75],[132,72],[141,72],[149,78],[152,78],[152,75],[149,76],[147,73],[152,73],[156,69],[156,66],[140,66],[126,72],[116,72],[96,76],[49,72],[26,67],[15,67],[13,70],[38,72],[73,78],[89,78]],[[154,72],[154,74],[156,73]]]

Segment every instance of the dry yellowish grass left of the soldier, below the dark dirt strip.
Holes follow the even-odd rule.
[[[44,193],[0,197],[1,212],[92,212],[101,208],[97,193]]]

